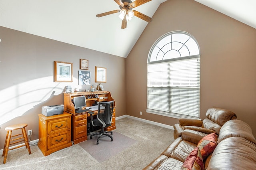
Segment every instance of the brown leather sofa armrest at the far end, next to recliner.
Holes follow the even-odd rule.
[[[186,129],[182,132],[182,139],[188,142],[192,142],[194,144],[198,144],[198,142],[207,134],[198,132],[196,130]]]

